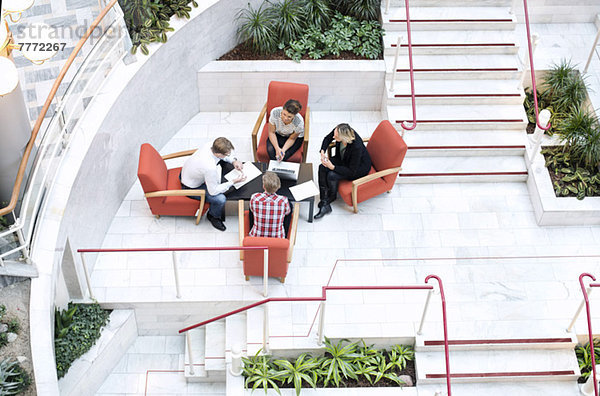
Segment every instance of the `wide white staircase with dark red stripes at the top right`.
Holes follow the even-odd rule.
[[[382,17],[387,116],[402,131],[412,120],[404,1],[392,0]],[[523,67],[510,2],[413,0],[410,17],[417,128],[404,134],[398,182],[526,180]]]

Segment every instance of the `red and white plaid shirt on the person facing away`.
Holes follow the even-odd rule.
[[[266,192],[255,193],[250,198],[250,210],[254,214],[250,236],[285,238],[283,218],[291,212],[287,197]]]

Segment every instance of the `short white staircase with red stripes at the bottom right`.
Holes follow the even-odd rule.
[[[580,372],[574,353],[575,336],[565,337],[563,333],[548,338],[456,339],[449,343],[453,388],[469,384],[461,388],[465,391],[460,394],[475,394],[477,389],[482,392],[484,385],[487,392],[488,388],[495,389],[495,384],[510,395],[525,394],[524,390],[529,394],[557,396],[578,393],[576,381]],[[445,386],[443,345],[442,340],[417,337],[418,384],[431,389]]]

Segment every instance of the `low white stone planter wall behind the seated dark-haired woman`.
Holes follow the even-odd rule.
[[[332,71],[334,71],[332,73]],[[308,84],[312,110],[381,110],[383,60],[213,61],[198,72],[202,111],[256,111],[270,81]]]

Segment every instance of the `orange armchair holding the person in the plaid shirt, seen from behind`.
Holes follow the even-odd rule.
[[[269,247],[269,276],[279,278],[281,283],[285,282],[287,270],[294,244],[296,243],[296,232],[298,230],[298,215],[300,214],[300,205],[294,204],[292,210],[292,221],[288,229],[287,238],[264,238],[251,237],[250,220],[248,211],[244,211],[244,201],[238,201],[238,221],[240,246],[268,246]],[[264,255],[262,250],[240,251],[240,260],[243,261],[244,275],[246,280],[250,276],[263,276]]]

